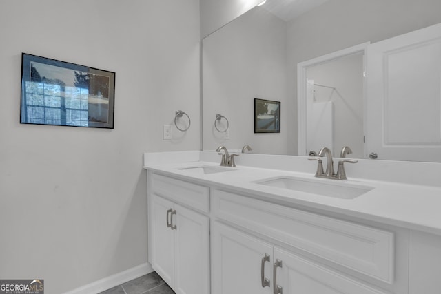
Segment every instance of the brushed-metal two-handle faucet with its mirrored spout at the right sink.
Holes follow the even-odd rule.
[[[340,157],[345,158],[345,156],[347,154],[351,154],[351,153],[352,153],[351,148],[345,146],[345,147],[343,147],[343,149],[340,153]],[[318,178],[331,178],[334,180],[347,180],[345,166],[344,166],[345,162],[349,162],[349,163],[358,162],[358,160],[353,160],[353,159],[338,160],[337,173],[334,174],[334,160],[332,159],[331,150],[329,150],[329,148],[327,148],[327,147],[323,147],[318,152],[318,156],[320,156],[320,157],[326,156],[327,162],[326,162],[326,171],[325,172],[323,172],[323,165],[322,165],[321,158],[316,158],[316,157],[308,158],[309,160],[317,160],[318,161],[318,167],[317,167],[317,171],[316,171],[316,177],[318,177]]]

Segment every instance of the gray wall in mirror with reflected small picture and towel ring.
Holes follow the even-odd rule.
[[[285,34],[284,21],[257,7],[203,39],[205,150],[248,144],[256,153],[286,154]],[[280,133],[254,134],[254,98],[280,101]],[[216,114],[229,120],[229,140],[214,129]]]

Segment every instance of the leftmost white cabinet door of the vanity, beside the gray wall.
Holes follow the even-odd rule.
[[[167,224],[172,221],[172,207],[173,202],[151,194],[148,208],[149,262],[170,285],[174,280],[174,231]]]

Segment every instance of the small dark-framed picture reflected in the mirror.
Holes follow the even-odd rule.
[[[254,133],[280,133],[280,101],[254,98]]]

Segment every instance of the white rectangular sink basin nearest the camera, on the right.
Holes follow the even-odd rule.
[[[373,189],[373,187],[355,185],[337,180],[309,180],[294,177],[271,178],[267,180],[260,180],[256,183],[270,187],[314,193],[322,196],[342,199],[353,199],[358,196],[362,196],[364,193],[367,193]]]

